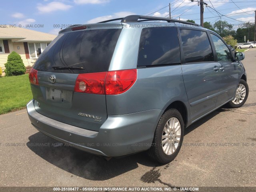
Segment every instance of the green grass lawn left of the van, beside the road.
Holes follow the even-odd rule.
[[[22,109],[32,98],[28,74],[0,78],[0,114]]]

